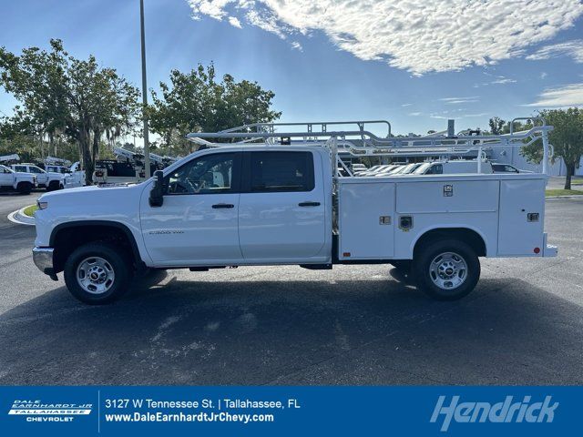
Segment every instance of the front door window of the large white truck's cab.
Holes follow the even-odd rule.
[[[165,178],[166,193],[220,194],[232,192],[234,153],[194,158]]]

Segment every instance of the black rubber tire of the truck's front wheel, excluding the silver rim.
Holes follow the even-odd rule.
[[[111,279],[110,284],[107,284],[107,282],[105,285],[97,284],[97,286],[103,285],[104,287],[108,285],[107,290],[103,290],[103,292],[99,290],[90,292],[81,285],[80,282],[82,279],[77,278],[77,269],[87,259],[104,260],[107,263],[106,266],[108,266],[106,270],[113,270],[113,279]],[[73,251],[69,258],[66,259],[64,269],[66,288],[73,296],[84,303],[90,305],[111,303],[128,291],[133,276],[132,269],[131,260],[118,247],[104,242],[87,243]],[[84,274],[85,272],[81,273]],[[93,285],[96,289],[97,286]],[[89,285],[90,287],[91,285]]]

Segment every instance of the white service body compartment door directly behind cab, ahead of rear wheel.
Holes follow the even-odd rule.
[[[339,259],[394,256],[394,184],[339,185]]]

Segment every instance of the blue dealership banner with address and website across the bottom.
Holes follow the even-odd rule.
[[[580,387],[0,387],[0,435],[562,435]]]

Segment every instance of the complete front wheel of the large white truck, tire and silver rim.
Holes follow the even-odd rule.
[[[87,243],[65,263],[66,288],[78,300],[102,305],[117,300],[129,288],[131,263],[123,251],[107,243]]]

